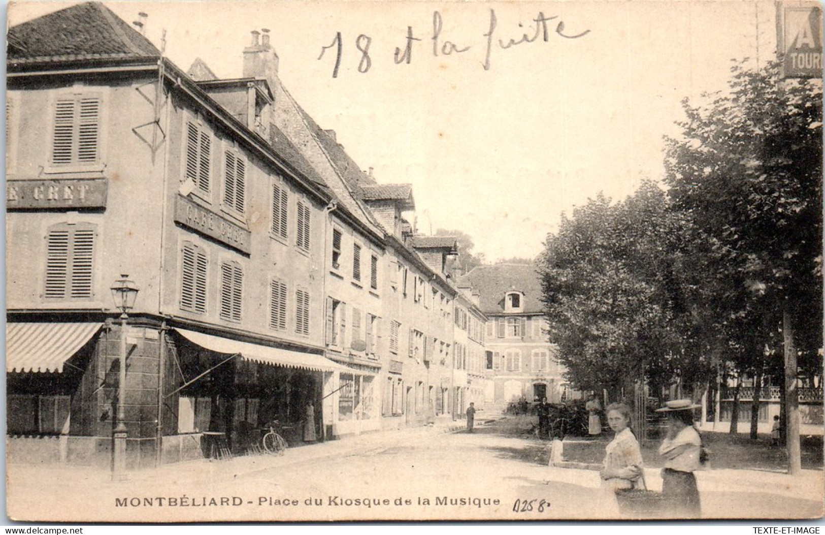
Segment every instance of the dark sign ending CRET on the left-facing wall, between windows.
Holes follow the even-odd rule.
[[[106,208],[106,178],[10,180],[7,210]]]

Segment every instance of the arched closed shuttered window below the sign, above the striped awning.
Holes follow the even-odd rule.
[[[60,224],[46,236],[44,296],[50,299],[82,299],[93,296],[95,227]]]

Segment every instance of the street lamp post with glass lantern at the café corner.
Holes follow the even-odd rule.
[[[128,310],[134,308],[134,300],[138,296],[138,287],[129,280],[129,275],[120,275],[111,287],[111,296],[115,301],[115,308],[120,310],[120,381],[118,381],[117,416],[115,420],[114,450],[112,451],[112,479],[124,480],[126,475],[126,320],[129,320]]]

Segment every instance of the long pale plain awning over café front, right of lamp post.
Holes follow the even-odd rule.
[[[196,333],[195,331],[186,329],[175,330],[185,339],[199,345],[201,348],[226,355],[240,354],[244,360],[252,362],[312,370],[314,372],[350,371],[349,368],[332,362],[327,357],[321,355],[299,353],[288,349],[269,348],[258,345],[257,343],[238,342],[237,340],[225,339],[220,336],[212,336],[211,334]]]

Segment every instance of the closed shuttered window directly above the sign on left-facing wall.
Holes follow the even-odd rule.
[[[54,103],[52,163],[97,163],[100,112],[98,97],[62,97]]]

